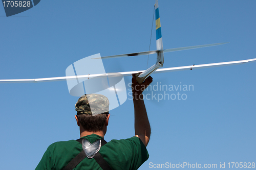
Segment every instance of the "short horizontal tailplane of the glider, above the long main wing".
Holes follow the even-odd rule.
[[[208,47],[208,46],[222,45],[222,44],[226,44],[226,43],[229,43],[229,42],[221,42],[221,43],[206,44],[206,45],[196,45],[196,46],[186,46],[186,47],[179,47],[179,48],[170,48],[170,49],[163,50],[163,52],[164,53],[166,53],[166,52],[176,52],[176,51],[190,50],[190,49],[202,48],[202,47]],[[149,55],[149,54],[157,54],[157,50],[148,51],[148,52],[120,54],[120,55],[115,55],[115,56],[106,56],[106,57],[101,57],[101,59],[118,58],[118,57],[131,57],[131,56],[142,56],[142,55]],[[100,59],[100,58],[93,58],[93,59]]]

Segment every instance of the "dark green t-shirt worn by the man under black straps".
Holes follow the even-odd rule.
[[[91,143],[101,136],[96,134],[84,136]],[[82,145],[76,140],[60,141],[51,144],[46,150],[35,170],[61,170],[77,154],[82,151]],[[148,153],[142,141],[134,136],[128,139],[111,140],[103,145],[99,153],[114,169],[138,169],[148,159]],[[74,169],[102,169],[94,158],[83,159]]]

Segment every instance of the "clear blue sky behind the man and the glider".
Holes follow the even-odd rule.
[[[84,57],[147,51],[155,1],[41,1],[6,17],[0,5],[0,79],[65,76]],[[163,47],[221,46],[164,54],[164,67],[256,58],[256,1],[159,0]],[[154,19],[155,20],[155,19]],[[156,49],[155,22],[151,50]],[[151,55],[148,65],[155,63]],[[107,72],[146,69],[147,56],[103,61]],[[155,84],[193,85],[186,100],[146,100],[152,164],[256,162],[256,63],[153,75]],[[131,77],[125,78],[125,83]],[[34,169],[55,141],[79,138],[78,97],[67,83],[0,84],[1,169]],[[127,91],[129,92],[129,91]],[[151,93],[152,91],[147,91]],[[131,99],[128,96],[129,99]],[[111,111],[106,141],[134,135],[133,103]]]

